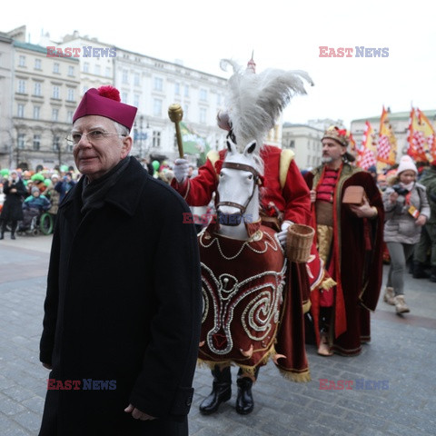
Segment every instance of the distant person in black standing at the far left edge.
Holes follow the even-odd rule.
[[[21,207],[24,197],[27,195],[25,183],[21,181],[15,170],[11,171],[10,178],[5,180],[3,192],[5,193],[5,203],[0,215],[0,239],[5,238],[7,223],[11,223],[11,239],[15,239],[16,225],[18,221],[23,220],[23,210]]]

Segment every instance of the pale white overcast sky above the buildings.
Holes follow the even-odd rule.
[[[42,6],[44,5],[44,6]],[[306,0],[75,0],[59,6],[48,0],[8,5],[0,31],[26,25],[31,43],[42,32],[60,40],[80,35],[165,61],[229,77],[220,60],[246,64],[254,52],[257,71],[307,71],[314,86],[296,96],[283,121],[343,120],[391,112],[436,109],[436,25],[432,0],[382,2]],[[68,6],[66,6],[68,5]],[[320,57],[320,47],[352,57]],[[386,57],[356,57],[356,46],[385,48]]]

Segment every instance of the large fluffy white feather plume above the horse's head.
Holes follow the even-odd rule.
[[[302,79],[313,85],[312,79],[301,70],[269,68],[253,74],[230,59],[221,61],[224,70],[229,64],[233,75],[228,81],[226,104],[238,149],[243,150],[253,140],[262,145],[292,97],[306,94]]]

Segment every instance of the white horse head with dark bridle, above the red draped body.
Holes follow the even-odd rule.
[[[247,144],[238,153],[235,144],[227,139],[228,152],[223,162],[218,183],[217,212],[223,225],[238,225],[255,221],[259,216],[259,184],[263,166],[258,144]]]

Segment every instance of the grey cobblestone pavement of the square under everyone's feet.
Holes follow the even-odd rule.
[[[38,362],[38,344],[50,239],[26,236],[11,241],[6,233],[0,242],[2,436],[36,435],[39,430],[47,372]],[[198,405],[209,394],[211,378],[208,370],[198,368],[190,435],[436,434],[436,284],[409,274],[406,281],[411,313],[398,316],[393,306],[381,301],[372,316],[372,342],[360,356],[322,358],[308,346],[308,383],[284,380],[271,363],[264,367],[253,388],[251,415],[234,411],[234,382],[232,399],[216,414],[201,415]],[[352,389],[321,390],[320,379],[352,381]],[[377,381],[378,389],[358,389],[374,388]]]

